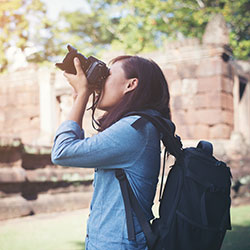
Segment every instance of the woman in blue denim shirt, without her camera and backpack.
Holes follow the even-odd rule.
[[[56,132],[52,161],[62,166],[95,168],[86,249],[147,249],[144,233],[134,214],[136,240],[128,240],[115,169],[124,169],[139,204],[151,220],[160,168],[160,135],[150,122],[135,129],[131,125],[139,116],[124,115],[147,109],[170,119],[167,82],[153,61],[138,56],[113,59],[97,104],[97,108],[106,111],[99,120],[100,132],[85,138],[82,118],[92,91],[77,58],[74,64],[77,74],[64,75],[76,97],[68,119]]]

